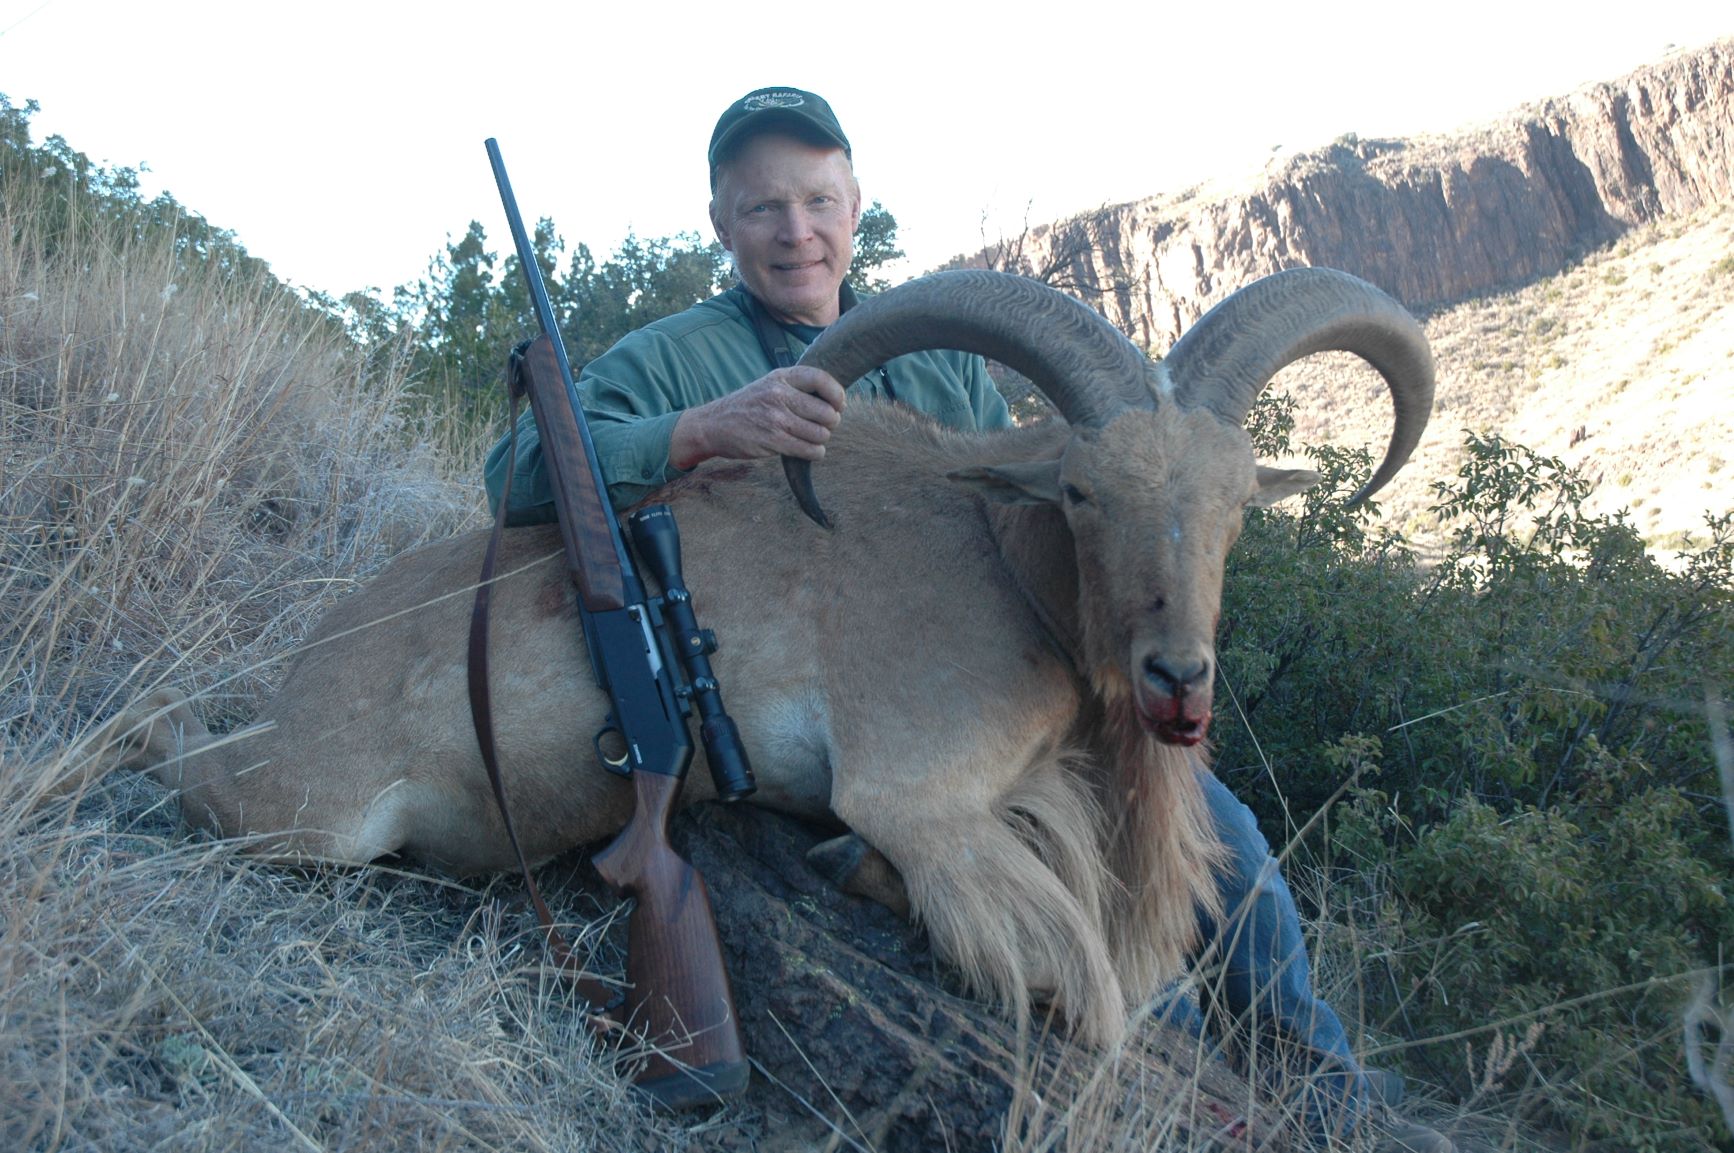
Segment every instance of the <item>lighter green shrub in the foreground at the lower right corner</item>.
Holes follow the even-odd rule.
[[[1679,1035],[1706,952],[1734,940],[1725,855],[1706,858],[1679,791],[1630,792],[1647,766],[1595,759],[1600,798],[1509,815],[1470,799],[1413,839],[1384,792],[1356,794],[1333,848],[1387,876],[1398,910],[1365,1007],[1379,1028],[1453,1037],[1410,1066],[1465,1099],[1618,1148],[1701,1150],[1725,1134]],[[1522,1061],[1477,1084],[1472,1054],[1498,1035],[1526,1037]]]

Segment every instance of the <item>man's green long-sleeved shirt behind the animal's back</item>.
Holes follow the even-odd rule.
[[[806,345],[777,329],[799,359]],[[577,397],[584,406],[596,461],[609,499],[626,508],[683,475],[668,463],[668,439],[681,409],[742,388],[772,369],[759,347],[751,298],[739,284],[623,336],[584,366]],[[848,385],[851,401],[895,399],[954,428],[1009,428],[1011,413],[987,375],[981,357],[968,352],[912,352],[888,361]],[[487,501],[499,506],[506,479],[506,439],[487,454]],[[536,420],[518,420],[518,456],[512,473],[508,524],[553,520],[553,491],[541,465]]]

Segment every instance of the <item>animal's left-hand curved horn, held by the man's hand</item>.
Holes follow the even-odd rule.
[[[1129,406],[1155,404],[1150,359],[1084,303],[1007,272],[959,269],[898,284],[843,314],[801,364],[844,387],[891,357],[928,349],[976,352],[1023,373],[1070,425],[1105,425]],[[810,461],[782,458],[801,510],[829,527]]]

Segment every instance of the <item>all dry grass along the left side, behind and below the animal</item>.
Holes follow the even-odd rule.
[[[0,160],[0,1148],[647,1130],[598,1136],[623,1091],[484,893],[258,867],[186,841],[153,784],[87,780],[99,723],[154,685],[251,714],[328,603],[479,491],[404,416],[404,357],[196,227]]]

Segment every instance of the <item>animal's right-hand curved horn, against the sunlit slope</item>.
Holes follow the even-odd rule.
[[[1385,459],[1349,498],[1353,506],[1403,468],[1432,413],[1432,352],[1420,324],[1396,300],[1333,269],[1276,272],[1198,317],[1162,366],[1176,401],[1240,425],[1276,373],[1332,349],[1379,369],[1396,409]]]

